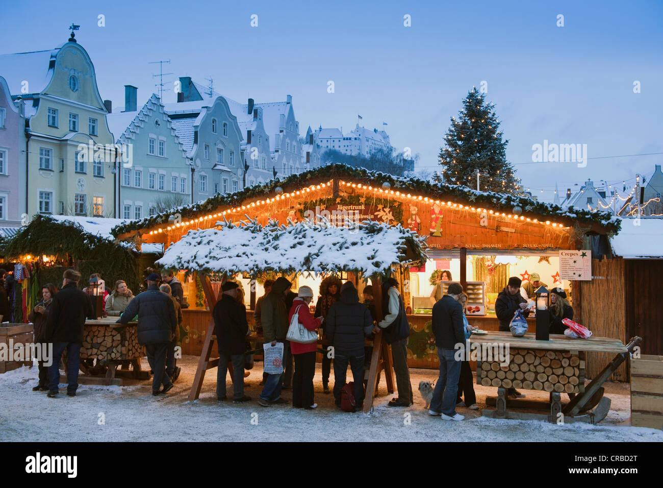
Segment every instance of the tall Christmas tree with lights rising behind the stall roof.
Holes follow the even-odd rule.
[[[494,104],[473,88],[463,100],[459,118],[444,135],[446,147],[440,148],[442,182],[499,193],[518,193],[520,181],[507,161],[508,140],[502,139]]]

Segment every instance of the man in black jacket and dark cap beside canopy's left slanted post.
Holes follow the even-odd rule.
[[[225,400],[225,374],[228,363],[233,363],[233,403],[248,402],[244,394],[244,353],[249,333],[246,308],[237,303],[237,283],[225,282],[223,295],[212,311],[214,333],[219,347],[219,366],[216,372],[216,398]]]

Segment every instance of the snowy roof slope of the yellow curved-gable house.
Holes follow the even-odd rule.
[[[21,95],[24,81],[28,82],[27,93],[41,93],[53,76],[54,70],[48,66],[58,50],[60,48],[0,54],[0,74],[7,80],[11,94]]]

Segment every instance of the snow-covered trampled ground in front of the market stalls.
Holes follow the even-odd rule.
[[[320,365],[316,372],[317,410],[291,406],[263,408],[256,402],[261,363],[245,378],[245,394],[253,401],[235,405],[217,402],[216,370],[210,370],[200,399],[187,396],[196,372],[198,357],[178,361],[182,374],[168,394],[153,397],[151,381],[136,386],[82,385],[70,398],[60,385],[60,398],[47,398],[45,392],[32,392],[36,366],[0,374],[0,438],[17,441],[663,441],[659,430],[630,426],[629,384],[607,383],[606,396],[612,410],[599,426],[566,424],[559,426],[537,421],[492,420],[479,412],[457,408],[466,416],[462,422],[431,417],[424,410],[419,392],[414,406],[389,408],[384,380],[371,414],[348,414],[333,407],[331,395],[322,393]],[[143,359],[143,367],[147,361]],[[332,373],[333,374],[333,373]],[[412,385],[422,379],[434,380],[436,371],[411,369]],[[333,376],[332,376],[333,382]],[[229,394],[232,386],[228,382]],[[475,386],[481,408],[487,394],[496,388]],[[547,393],[526,392],[528,398],[548,398]],[[291,391],[282,395],[291,398]],[[564,398],[563,398],[564,400]],[[99,424],[100,414],[105,423]],[[405,422],[411,414],[410,423]],[[257,416],[256,416],[257,415]],[[255,420],[257,419],[257,425]],[[252,423],[253,420],[253,423]]]

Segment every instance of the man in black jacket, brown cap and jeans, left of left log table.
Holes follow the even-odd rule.
[[[76,396],[78,368],[83,344],[83,327],[92,313],[90,295],[78,289],[81,274],[66,270],[62,275],[62,289],[53,297],[46,321],[44,339],[53,343],[53,359],[48,366],[48,397],[58,396],[60,384],[60,361],[67,350],[67,396]]]

